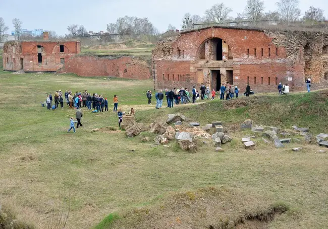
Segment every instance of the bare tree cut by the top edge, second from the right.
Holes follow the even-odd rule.
[[[298,0],[280,0],[276,3],[283,23],[289,25],[301,16]]]

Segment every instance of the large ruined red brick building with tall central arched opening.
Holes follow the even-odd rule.
[[[305,77],[328,86],[328,35],[320,32],[214,26],[159,41],[152,60],[155,89],[204,83],[218,90],[228,82],[267,92],[281,82],[304,90]]]

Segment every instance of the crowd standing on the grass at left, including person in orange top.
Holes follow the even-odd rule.
[[[108,101],[107,98],[103,98],[102,95],[98,95],[97,93],[93,93],[91,96],[90,93],[85,90],[83,93],[76,92],[72,93],[72,91],[66,91],[64,94],[65,100],[67,105],[70,109],[79,109],[81,107],[86,107],[89,110],[93,110],[93,112],[104,112],[108,111]],[[117,95],[114,95],[113,98],[114,102],[114,112],[117,112],[119,100]],[[59,107],[59,104],[61,108],[64,108],[64,98],[63,93],[61,90],[56,91],[54,94],[54,105],[52,105],[52,94],[47,94],[46,98],[46,104],[47,109],[50,110],[52,108],[53,110]]]

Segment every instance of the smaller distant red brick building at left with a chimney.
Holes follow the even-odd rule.
[[[4,44],[4,70],[57,71],[70,57],[80,53],[79,41],[8,41]]]

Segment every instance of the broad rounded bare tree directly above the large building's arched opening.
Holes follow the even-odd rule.
[[[215,4],[205,11],[205,18],[207,22],[221,23],[231,19],[229,16],[231,12],[232,8],[226,7],[223,3]]]

